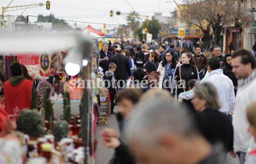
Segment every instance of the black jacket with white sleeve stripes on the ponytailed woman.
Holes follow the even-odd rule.
[[[172,87],[171,94],[175,95],[175,88],[177,88],[177,96],[184,92],[183,87],[180,86],[180,76],[179,76],[179,67],[180,67],[180,73],[181,73],[181,79],[185,80],[183,84],[185,85],[185,91],[189,90],[189,80],[190,79],[197,79],[199,81],[199,75],[197,69],[194,70],[193,66],[191,64],[182,64],[181,66],[178,66],[174,72],[174,80],[172,81]],[[186,83],[186,84],[185,84]],[[176,87],[175,87],[176,85]]]

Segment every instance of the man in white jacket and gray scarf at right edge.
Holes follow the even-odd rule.
[[[245,161],[245,154],[255,147],[252,135],[247,131],[249,123],[246,119],[246,108],[256,101],[256,61],[253,54],[239,49],[233,54],[232,66],[238,79],[238,90],[234,108],[234,151],[231,155],[239,156],[240,163]]]

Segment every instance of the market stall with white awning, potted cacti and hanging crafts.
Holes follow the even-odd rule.
[[[4,34],[0,53],[6,79],[11,63],[19,62],[37,86],[39,100],[33,92],[33,108],[18,115],[25,161],[94,163],[98,90],[86,86],[96,80],[98,40],[77,32]],[[78,87],[81,80],[85,87]]]

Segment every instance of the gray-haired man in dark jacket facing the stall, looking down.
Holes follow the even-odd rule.
[[[109,43],[103,42],[102,49],[99,51],[99,66],[102,67],[103,73],[109,70],[109,64],[111,63],[112,54],[109,49]]]

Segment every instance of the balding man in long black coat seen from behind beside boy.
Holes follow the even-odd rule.
[[[112,57],[111,62],[116,64],[115,77],[117,80],[117,87],[123,89],[126,86],[126,80],[131,76],[131,68],[129,59],[122,54],[121,48],[116,48],[116,55]]]

